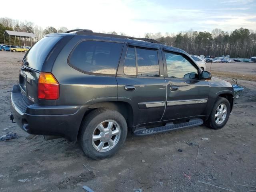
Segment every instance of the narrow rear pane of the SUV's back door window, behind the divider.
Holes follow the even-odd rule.
[[[128,47],[124,61],[124,74],[136,75],[136,60],[134,47]]]

